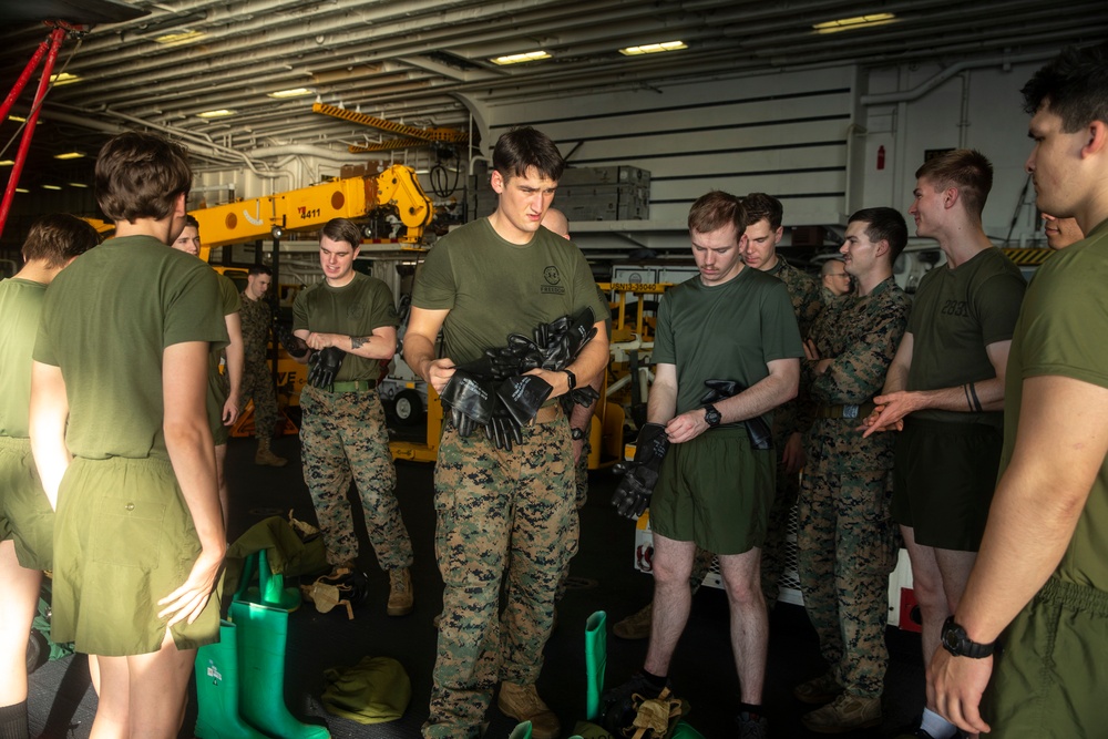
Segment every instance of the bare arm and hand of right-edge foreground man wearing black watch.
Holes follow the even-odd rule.
[[[1108,455],[1106,414],[1106,388],[1063,377],[1024,381],[1012,462],[955,614],[974,642],[994,642],[1061,561]],[[978,702],[991,669],[991,658],[935,653],[927,689],[963,730],[988,730]]]

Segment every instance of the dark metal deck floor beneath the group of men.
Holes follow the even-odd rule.
[[[232,540],[260,519],[287,513],[315,521],[311,501],[300,476],[299,443],[295,437],[275,442],[277,453],[289,459],[283,469],[254,465],[253,440],[232,439],[227,475],[232,490]],[[362,541],[359,564],[369,575],[369,599],[348,620],[342,608],[317,613],[306,604],[291,615],[285,676],[289,709],[300,717],[326,721],[331,736],[346,738],[414,739],[428,714],[431,669],[434,665],[435,628],[431,619],[442,605],[442,581],[433,553],[434,510],[432,466],[399,463],[398,496],[404,522],[416,550],[413,581],[416,610],[410,616],[389,618],[384,614],[388,578],[377,566],[372,548]],[[558,627],[546,647],[546,663],[538,681],[540,695],[558,714],[564,736],[584,718],[584,627],[596,610],[608,614],[608,625],[647,603],[652,581],[633,566],[635,532],[632,523],[617,517],[608,505],[613,479],[606,472],[591,478],[589,500],[582,511],[582,540],[573,561],[572,587],[558,610]],[[693,602],[693,613],[674,658],[671,679],[678,696],[691,705],[688,721],[707,739],[735,736],[730,728],[737,705],[738,678],[728,637],[727,598],[721,591],[701,588]],[[903,726],[920,711],[923,701],[923,667],[915,634],[896,629],[888,633],[891,653],[884,696],[885,718],[878,729],[858,731],[859,738],[876,738]],[[646,642],[624,642],[609,634],[607,685],[615,686],[640,667]],[[353,665],[365,656],[398,659],[412,684],[412,700],[399,721],[361,726],[330,716],[318,701],[322,671],[328,667]],[[774,737],[810,737],[800,722],[809,710],[791,694],[797,682],[823,669],[815,635],[803,608],[780,604],[771,615],[769,664],[765,705]],[[31,736],[49,739],[89,736],[95,711],[95,695],[89,687],[82,656],[49,663],[31,677],[29,711]],[[192,737],[194,704],[185,719],[182,737]],[[310,720],[310,719],[309,719]],[[490,739],[506,737],[514,721],[494,707],[489,711]]]

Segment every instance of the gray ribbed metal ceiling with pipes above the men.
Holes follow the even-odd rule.
[[[1108,38],[1104,0],[0,0],[0,92],[48,33],[28,14],[95,6],[110,16],[117,4],[146,14],[100,22],[65,41],[58,70],[81,81],[47,99],[25,182],[59,166],[85,173],[88,162],[50,157],[74,147],[94,154],[120,126],[171,131],[202,166],[265,167],[270,156],[324,148],[345,156],[351,144],[397,138],[314,113],[317,96],[409,126],[468,131],[471,112],[480,117],[489,106],[536,96],[849,62],[953,63]],[[876,12],[897,20],[812,31],[813,23]],[[179,45],[154,41],[185,29],[203,35]],[[675,39],[689,48],[637,58],[617,51]],[[553,59],[507,68],[489,61],[535,49]],[[284,101],[266,94],[300,86],[314,94]],[[31,90],[17,112],[25,113]],[[197,117],[214,109],[236,113]],[[13,158],[14,133],[4,122],[0,158]]]

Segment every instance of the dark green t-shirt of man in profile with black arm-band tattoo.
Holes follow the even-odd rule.
[[[1012,338],[1025,288],[1019,268],[996,248],[977,253],[955,269],[940,266],[924,275],[907,324],[907,389],[957,388],[996,377],[985,347]],[[1002,413],[923,410],[912,415],[998,427]]]

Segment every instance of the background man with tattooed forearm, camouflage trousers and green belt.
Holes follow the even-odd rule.
[[[384,409],[377,394],[382,361],[397,350],[397,309],[379,279],[355,271],[361,230],[334,218],[319,237],[324,281],[293,304],[293,333],[311,349],[300,393],[304,481],[334,568],[356,567],[358,537],[347,492],[353,478],[369,541],[389,573],[390,616],[412,612],[412,545],[393,493],[397,472],[389,452]]]

